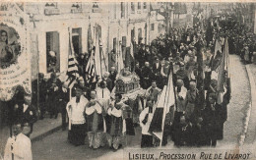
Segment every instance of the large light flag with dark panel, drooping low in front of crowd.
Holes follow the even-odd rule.
[[[153,119],[149,129],[149,132],[154,133],[158,138],[160,138],[160,145],[162,141],[166,113],[171,111],[171,114],[174,117],[174,105],[175,96],[172,74],[169,74],[168,83],[163,87],[159,100],[156,103],[156,109],[154,110]]]

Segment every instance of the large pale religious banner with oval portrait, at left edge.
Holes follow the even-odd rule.
[[[11,100],[17,86],[31,93],[27,15],[15,3],[0,8],[0,100]]]

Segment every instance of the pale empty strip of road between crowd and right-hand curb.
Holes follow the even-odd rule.
[[[235,145],[244,127],[244,118],[251,100],[250,84],[245,66],[237,55],[229,55],[231,100],[227,106],[227,121],[224,123],[224,139],[221,145]]]

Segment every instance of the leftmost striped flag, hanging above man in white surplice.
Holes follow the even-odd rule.
[[[75,58],[75,52],[72,43],[71,37],[71,28],[69,27],[69,57],[68,57],[68,70],[67,70],[67,79],[65,82],[68,83],[68,87],[72,88],[76,80],[79,78],[78,74],[78,62]]]

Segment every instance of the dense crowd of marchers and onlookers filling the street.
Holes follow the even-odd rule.
[[[138,44],[133,41],[134,61],[125,63],[121,73],[136,73],[145,89],[145,94],[138,95],[138,101],[133,103],[123,100],[124,95],[120,93],[110,96],[120,74],[114,65],[102,78],[96,77],[93,84],[89,85],[86,77],[81,76],[72,89],[55,73],[47,81],[39,74],[38,81],[32,83],[35,88],[32,95],[27,95],[23,88],[18,89],[13,122],[30,127],[26,133],[30,136],[36,116],[43,119],[48,112],[50,118],[57,118],[61,113],[62,129],[69,128],[68,140],[74,145],[83,145],[88,137],[89,147],[94,149],[104,145],[114,150],[120,148],[127,142],[126,136],[135,135],[139,126],[142,128],[141,147],[166,145],[169,139],[176,147],[216,146],[217,140],[224,138],[230,99],[230,82],[224,79],[224,95],[220,100],[216,76],[226,38],[230,54],[240,55],[245,63],[252,61],[255,35],[247,32],[233,15],[172,29],[151,45],[143,44],[142,39]],[[217,41],[221,44],[219,50]],[[89,57],[88,53],[77,57],[79,72],[83,73]],[[160,139],[151,132],[152,125],[156,124],[152,120],[169,75],[173,79],[175,105],[168,106],[169,111],[163,113],[166,118]],[[36,103],[39,114],[32,107]]]

